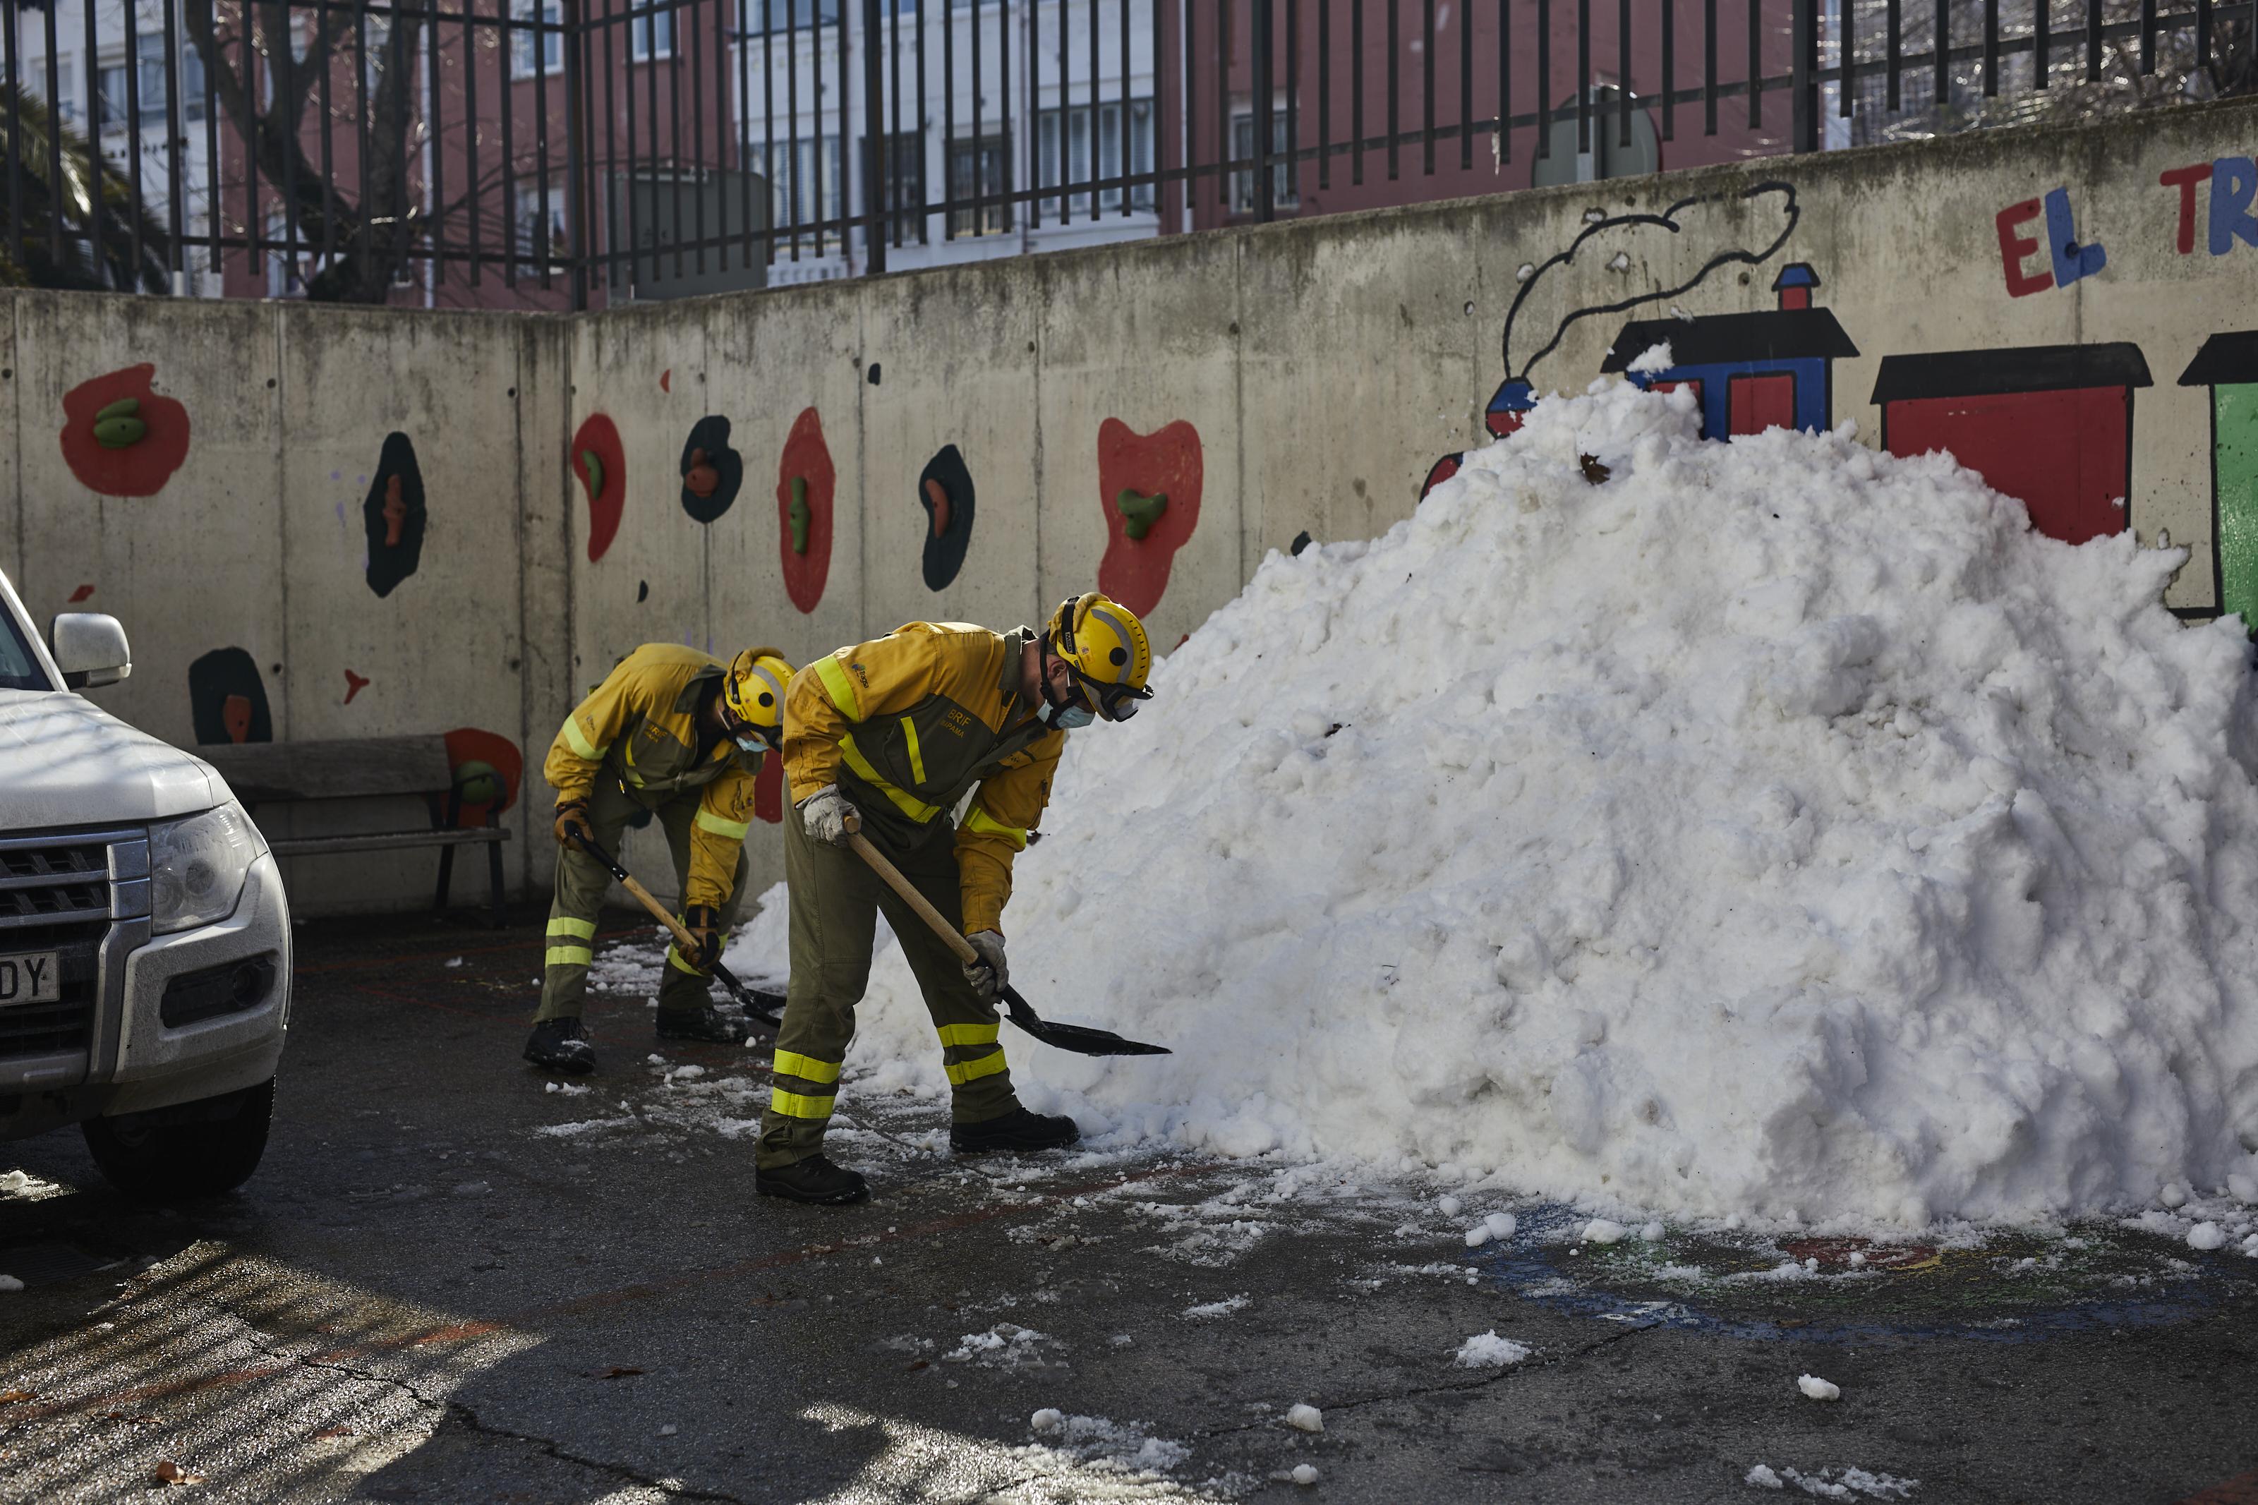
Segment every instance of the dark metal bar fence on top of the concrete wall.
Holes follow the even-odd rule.
[[[0,0],[20,280],[587,307],[2249,93],[2258,0]]]

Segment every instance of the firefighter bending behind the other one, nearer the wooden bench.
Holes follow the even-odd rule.
[[[723,663],[695,648],[646,643],[583,699],[542,774],[558,792],[558,880],[549,907],[549,961],[526,1060],[574,1076],[596,1070],[580,1029],[580,1000],[596,914],[612,875],[571,837],[619,851],[619,835],[648,810],[666,833],[682,894],[689,957],[666,948],[657,1029],[666,1040],[738,1045],[747,1024],[720,1013],[707,988],[745,887],[745,830],[761,758],[779,745],[793,666],[774,648]]]

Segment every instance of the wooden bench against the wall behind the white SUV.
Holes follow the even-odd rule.
[[[456,826],[467,803],[454,783],[447,738],[438,733],[404,738],[336,738],[327,742],[244,742],[196,747],[228,781],[246,808],[300,803],[318,799],[420,796],[431,808],[431,826],[420,830],[361,830],[334,837],[269,837],[278,857],[323,857],[334,853],[400,851],[438,846],[438,896],[434,909],[447,907],[458,846],[485,846],[485,873],[492,882],[488,923],[501,927],[501,844],[510,833],[499,824],[501,799],[485,806],[483,826]]]

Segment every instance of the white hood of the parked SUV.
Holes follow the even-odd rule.
[[[0,690],[0,837],[210,810],[226,781],[68,690]]]

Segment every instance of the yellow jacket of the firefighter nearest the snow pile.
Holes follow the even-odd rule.
[[[980,787],[955,828],[964,934],[1003,930],[1012,857],[1043,817],[1066,749],[1066,733],[1018,697],[1032,639],[1025,627],[908,623],[815,659],[784,693],[793,803],[835,783],[881,846],[930,839]]]

